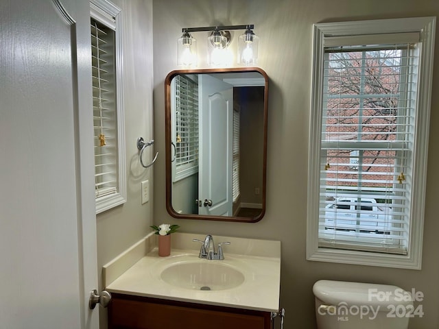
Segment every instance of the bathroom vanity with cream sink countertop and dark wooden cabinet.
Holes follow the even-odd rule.
[[[168,257],[158,256],[155,239],[104,266],[112,294],[108,328],[271,328],[279,308],[279,241],[214,236],[230,245],[224,260],[207,260],[192,241],[204,239],[200,234],[172,234]]]

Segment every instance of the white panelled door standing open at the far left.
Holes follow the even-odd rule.
[[[61,1],[0,2],[0,328],[99,325],[89,3]]]

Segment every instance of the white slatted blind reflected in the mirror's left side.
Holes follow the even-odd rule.
[[[175,77],[176,180],[198,172],[198,82]]]

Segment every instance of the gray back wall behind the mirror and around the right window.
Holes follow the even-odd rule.
[[[439,221],[436,186],[439,173],[439,95],[433,93],[429,171],[420,271],[309,262],[305,259],[307,156],[311,93],[312,24],[328,21],[439,16],[439,1],[427,0],[153,0],[154,8],[154,139],[161,152],[154,166],[154,222],[178,223],[183,232],[222,234],[282,243],[281,306],[285,328],[315,328],[312,285],[316,280],[351,280],[396,284],[425,293],[425,315],[410,328],[437,329],[439,305]],[[164,80],[176,66],[176,39],[182,27],[254,24],[260,36],[259,66],[270,77],[268,122],[267,212],[259,223],[177,220],[165,208]],[[204,54],[204,34],[198,39]],[[439,87],[439,34],[433,90]],[[235,47],[234,45],[232,47]],[[206,67],[205,62],[200,67]],[[144,222],[147,221],[143,219]],[[114,219],[117,221],[120,219]],[[126,219],[123,219],[125,221]],[[98,222],[99,224],[99,222]],[[146,223],[145,223],[146,225]],[[101,225],[99,225],[101,226]],[[121,232],[123,225],[120,226]],[[133,230],[132,228],[127,228]],[[113,230],[114,231],[114,230]],[[263,297],[263,296],[261,296]]]

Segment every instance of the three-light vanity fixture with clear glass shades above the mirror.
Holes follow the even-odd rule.
[[[252,29],[254,25],[228,25],[210,27],[183,27],[182,36],[178,38],[178,65],[197,66],[197,50],[195,38],[191,32],[211,32],[207,38],[207,63],[210,66],[230,66],[233,64],[233,54],[230,45],[232,29],[244,29],[245,32],[239,36],[238,44],[238,64],[252,66],[257,64],[259,38]]]

